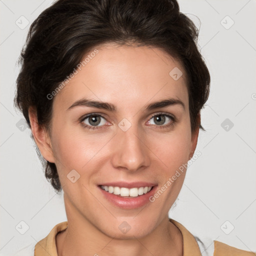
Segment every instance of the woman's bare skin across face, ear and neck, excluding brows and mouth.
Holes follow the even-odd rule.
[[[193,155],[198,130],[191,133],[188,92],[182,65],[159,48],[106,43],[53,98],[51,134],[37,124],[29,108],[31,130],[43,157],[57,166],[68,228],[56,235],[57,253],[63,255],[172,255],[183,254],[179,229],[168,211],[182,187],[185,170],[154,201],[136,209],[121,209],[103,198],[102,182],[148,181],[160,188]],[[88,53],[87,53],[88,54]],[[174,67],[183,75],[174,80]],[[88,106],[67,108],[83,97],[109,102],[116,112]],[[148,103],[172,97],[184,103],[143,111]],[[102,113],[98,129],[86,129],[78,119]],[[163,112],[163,113],[162,113]],[[152,114],[175,116],[174,126]],[[118,123],[126,118],[131,127]],[[199,117],[198,117],[199,118]],[[83,121],[92,126],[87,118]],[[160,126],[164,126],[159,128]],[[67,178],[75,169],[80,178]],[[123,221],[131,226],[122,233]]]

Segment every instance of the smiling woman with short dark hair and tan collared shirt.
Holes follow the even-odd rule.
[[[32,23],[15,103],[67,216],[34,255],[201,255],[168,218],[209,94],[197,36],[175,0],[58,0]]]

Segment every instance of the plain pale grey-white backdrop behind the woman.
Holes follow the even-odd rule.
[[[256,251],[256,1],[178,2],[200,26],[211,91],[201,115],[201,156],[169,216],[194,235]],[[13,108],[17,58],[29,25],[50,4],[0,0],[0,255],[35,244],[66,220],[63,195],[46,181],[30,129]],[[29,227],[24,234],[20,221]]]

